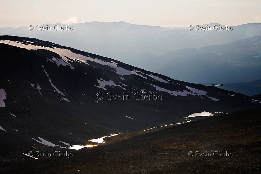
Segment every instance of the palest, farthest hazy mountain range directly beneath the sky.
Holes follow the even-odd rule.
[[[123,21],[74,23],[68,25],[68,27],[73,27],[73,30],[68,31],[55,31],[53,28],[55,25],[66,26],[61,23],[40,25],[52,29],[45,31],[41,29],[36,31],[36,26],[32,31],[28,27],[0,28],[0,35],[35,37],[98,55],[109,56],[135,66],[137,66],[135,61],[129,61],[133,55],[126,54],[127,52],[162,55],[181,48],[201,48],[226,44],[261,35],[260,23],[233,26],[232,31],[215,31],[214,29],[211,31],[196,31],[195,29],[190,31],[188,27],[134,25]],[[213,28],[214,25],[220,24],[200,26]],[[142,59],[142,56],[134,56],[136,56],[135,60]]]

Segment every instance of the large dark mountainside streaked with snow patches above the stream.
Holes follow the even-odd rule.
[[[8,164],[27,161],[29,151],[99,145],[118,133],[203,118],[190,119],[195,113],[261,106],[246,95],[35,38],[0,36],[0,54],[0,156]]]

